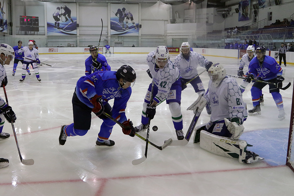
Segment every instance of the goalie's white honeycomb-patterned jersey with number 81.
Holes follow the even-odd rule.
[[[247,118],[246,103],[243,102],[240,87],[233,78],[225,77],[218,87],[214,87],[210,80],[205,98],[211,105],[211,122],[239,118],[240,123],[243,123]]]

